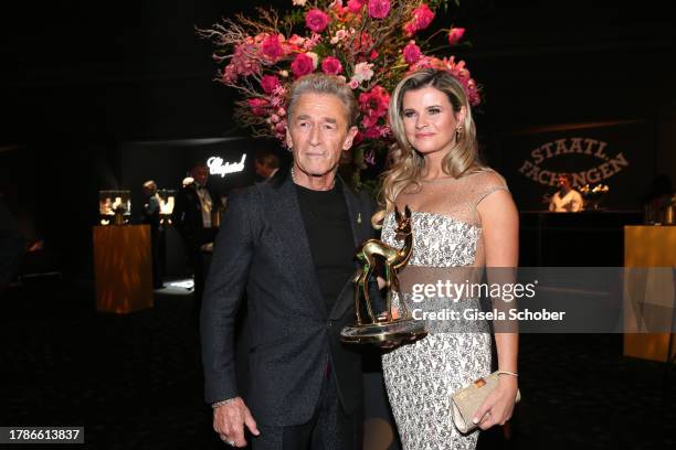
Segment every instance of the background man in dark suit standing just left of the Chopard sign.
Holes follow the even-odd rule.
[[[221,197],[208,185],[209,168],[197,162],[190,169],[192,183],[188,183],[176,196],[171,222],[181,235],[186,253],[194,270],[194,319],[199,320],[204,279],[215,240],[218,226],[212,225],[214,213],[221,210]]]

